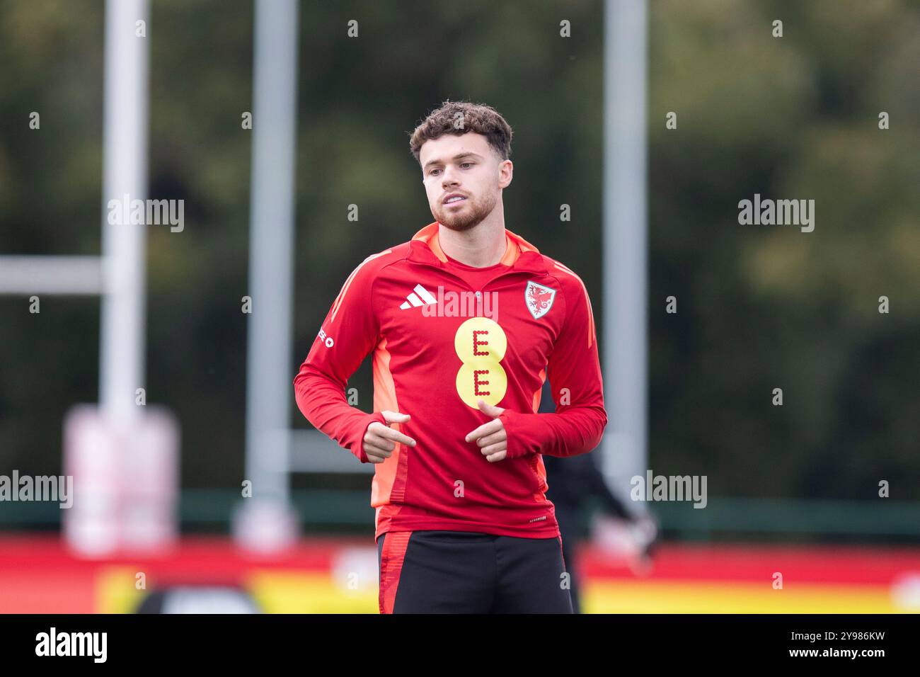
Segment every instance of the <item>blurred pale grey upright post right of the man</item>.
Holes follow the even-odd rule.
[[[604,6],[604,476],[627,501],[648,467],[647,11]]]

